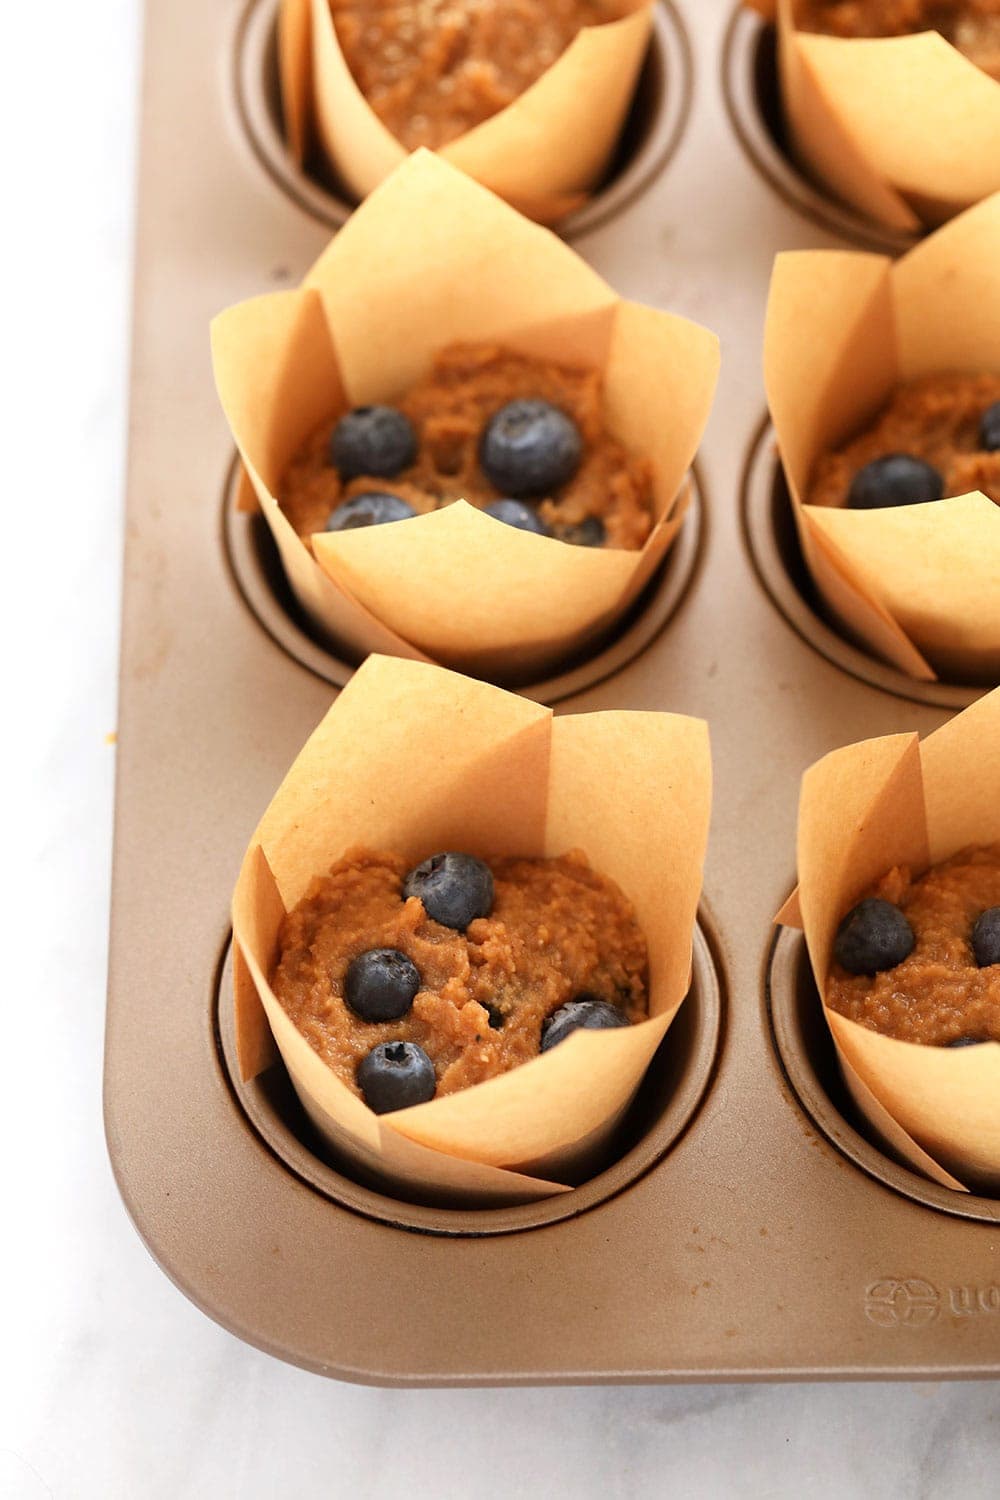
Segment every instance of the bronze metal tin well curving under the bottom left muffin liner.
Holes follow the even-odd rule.
[[[604,1168],[571,1192],[507,1209],[441,1208],[388,1197],[345,1174],[310,1126],[283,1064],[244,1083],[235,1062],[232,960],[226,951],[214,996],[214,1030],[229,1086],[247,1122],[283,1166],[345,1208],[427,1234],[508,1234],[574,1218],[646,1173],[691,1122],[709,1084],[723,1030],[723,992],[705,930],[696,928],[691,988],[616,1134]]]

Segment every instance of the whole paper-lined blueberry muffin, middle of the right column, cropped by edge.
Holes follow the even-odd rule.
[[[829,610],[910,676],[1000,678],[1000,195],[900,261],[775,261],[765,382]]]

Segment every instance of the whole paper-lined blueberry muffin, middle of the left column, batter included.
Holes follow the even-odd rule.
[[[213,358],[244,498],[318,630],[523,682],[664,560],[718,340],[420,152],[298,291],[216,318]]]

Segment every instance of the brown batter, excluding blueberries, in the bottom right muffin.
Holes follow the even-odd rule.
[[[834,964],[826,1004],[870,1030],[943,1047],[960,1036],[1000,1041],[1000,964],[976,968],[972,928],[1000,906],[1000,844],[969,848],[919,880],[889,870],[865,896],[901,908],[916,934],[909,958],[871,978]]]

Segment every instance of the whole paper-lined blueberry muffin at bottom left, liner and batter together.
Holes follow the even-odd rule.
[[[244,1077],[277,1048],[334,1158],[397,1192],[565,1191],[687,993],[709,804],[702,720],[369,658],[243,861]]]

